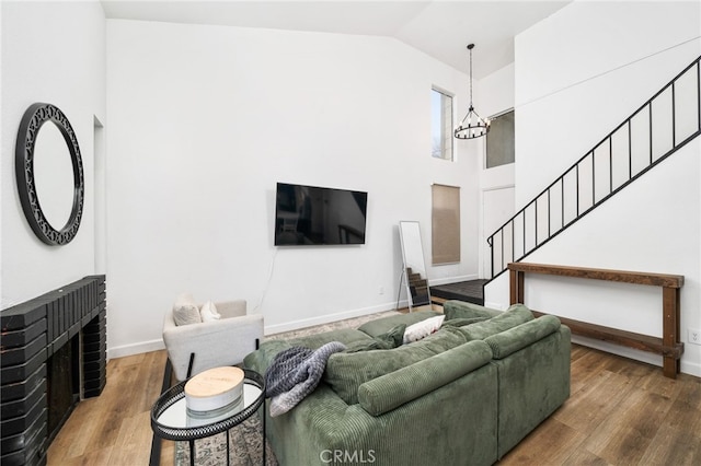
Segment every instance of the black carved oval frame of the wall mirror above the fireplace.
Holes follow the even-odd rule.
[[[56,230],[44,215],[34,180],[34,148],[42,125],[47,121],[53,121],[61,132],[66,145],[68,145],[73,167],[73,206],[70,217],[61,230]],[[35,103],[24,112],[18,131],[14,167],[22,210],[34,234],[42,242],[51,246],[70,243],[78,233],[83,213],[85,180],[76,132],[66,115],[58,107],[51,104]]]

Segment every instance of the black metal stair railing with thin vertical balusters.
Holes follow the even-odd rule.
[[[499,226],[491,279],[572,226],[701,133],[701,57]]]

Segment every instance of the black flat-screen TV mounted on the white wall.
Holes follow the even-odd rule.
[[[368,194],[277,184],[275,245],[365,244]]]

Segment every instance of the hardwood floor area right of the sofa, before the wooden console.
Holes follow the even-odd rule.
[[[573,345],[572,395],[499,465],[701,464],[701,380]]]

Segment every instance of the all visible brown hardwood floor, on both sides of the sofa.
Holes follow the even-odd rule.
[[[164,364],[165,351],[111,360],[103,394],[77,406],[48,465],[147,465]],[[173,456],[173,443],[163,442],[161,464]],[[498,464],[701,464],[701,378],[674,381],[659,368],[574,345],[572,396]]]

